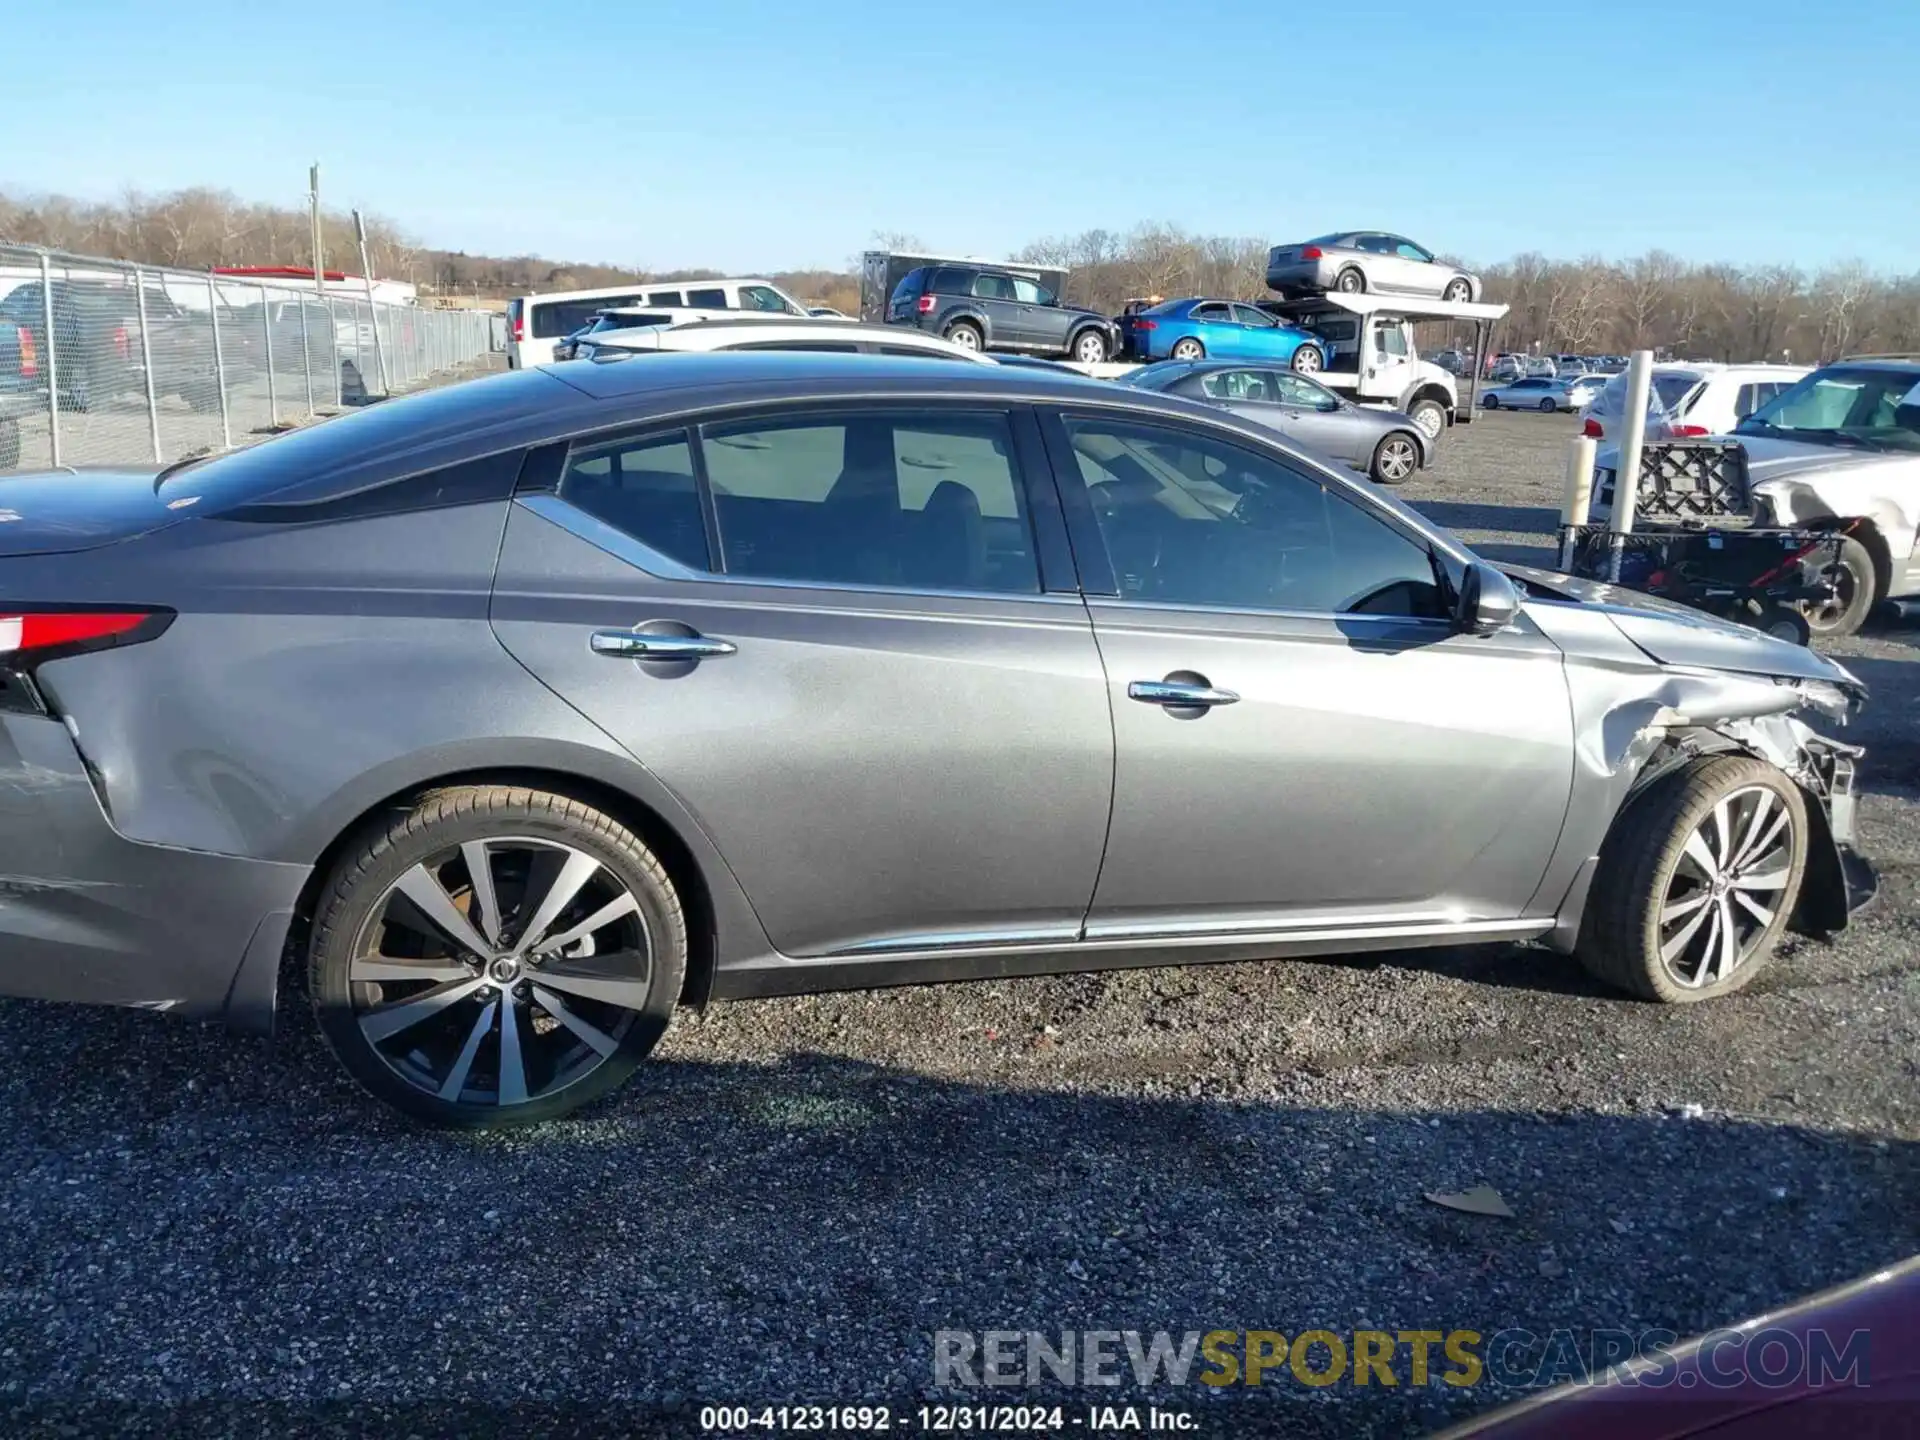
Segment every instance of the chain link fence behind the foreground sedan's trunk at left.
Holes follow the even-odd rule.
[[[480,359],[495,319],[0,244],[0,470],[246,445]]]

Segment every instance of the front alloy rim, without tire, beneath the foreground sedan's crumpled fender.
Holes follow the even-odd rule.
[[[1797,843],[1791,812],[1766,785],[1736,789],[1705,814],[1661,897],[1661,966],[1674,985],[1716,985],[1755,954]]]

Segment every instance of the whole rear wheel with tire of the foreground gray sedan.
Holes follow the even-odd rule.
[[[680,897],[618,820],[547,791],[436,791],[374,824],[313,918],[321,1033],[367,1091],[459,1129],[576,1110],[653,1050],[685,979]]]

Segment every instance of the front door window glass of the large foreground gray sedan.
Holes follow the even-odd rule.
[[[1427,547],[1300,470],[1185,430],[1068,434],[1123,599],[1444,614]]]

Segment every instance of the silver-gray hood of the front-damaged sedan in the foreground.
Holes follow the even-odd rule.
[[[1613,622],[1615,630],[1626,636],[1657,664],[1692,670],[1732,670],[1782,680],[1824,680],[1855,695],[1866,693],[1866,687],[1843,664],[1836,664],[1818,651],[1795,645],[1789,639],[1776,639],[1751,626],[1720,620],[1690,605],[1663,601],[1644,595],[1638,589],[1626,589],[1624,586],[1607,586],[1596,580],[1576,580],[1553,570],[1536,570],[1526,564],[1503,564],[1500,568],[1548,597],[1574,601],[1599,611]],[[1551,605],[1555,599],[1534,603]]]

